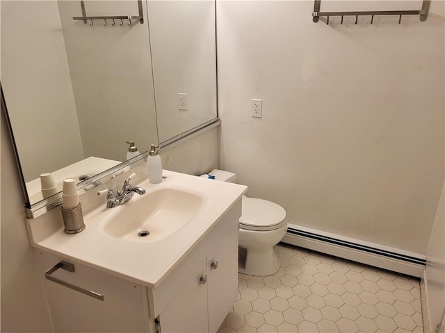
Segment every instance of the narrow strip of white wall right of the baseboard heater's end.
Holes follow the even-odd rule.
[[[422,280],[423,327],[425,332],[434,332],[441,323],[445,311],[445,184],[442,187],[439,205],[430,241],[426,250],[426,269]],[[445,325],[442,323],[445,332]]]

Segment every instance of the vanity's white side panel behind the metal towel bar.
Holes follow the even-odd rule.
[[[36,250],[44,271],[62,259]],[[69,262],[65,260],[65,262]],[[73,263],[71,263],[73,264]],[[149,330],[145,287],[74,263],[74,272],[59,268],[51,274],[83,291],[103,294],[98,300],[81,291],[44,279],[56,332],[147,332]]]

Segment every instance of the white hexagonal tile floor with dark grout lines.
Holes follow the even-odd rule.
[[[419,280],[286,244],[280,270],[238,275],[218,333],[422,332]]]

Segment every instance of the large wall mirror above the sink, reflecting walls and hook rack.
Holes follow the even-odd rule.
[[[84,8],[143,23],[84,24],[81,1],[1,1],[1,85],[31,210],[49,200],[42,173],[61,189],[127,166],[129,140],[143,153],[218,121],[213,0]]]

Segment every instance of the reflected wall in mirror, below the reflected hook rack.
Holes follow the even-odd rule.
[[[90,16],[138,15],[137,1],[85,1]],[[145,22],[128,26],[74,21],[80,1],[58,1],[85,157],[123,161],[128,144],[140,153],[158,142],[152,58]],[[112,116],[110,116],[112,114]]]

